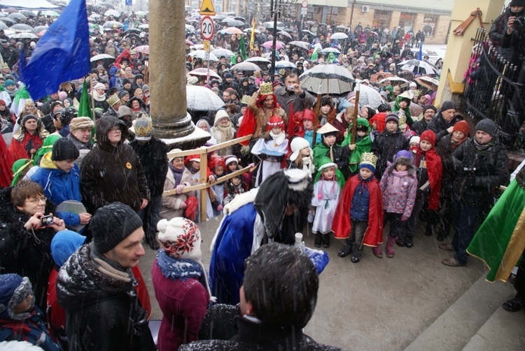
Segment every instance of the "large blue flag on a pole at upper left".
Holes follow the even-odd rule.
[[[31,97],[41,99],[61,83],[90,71],[90,34],[85,0],[71,0],[38,41],[29,63],[20,62]]]

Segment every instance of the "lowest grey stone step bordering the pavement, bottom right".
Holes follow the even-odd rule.
[[[462,350],[471,341],[472,336],[475,336],[485,322],[500,308],[501,304],[515,294],[511,284],[486,282],[485,275],[483,274],[440,317],[437,317],[437,320],[412,341],[405,351]],[[506,331],[501,330],[501,327],[496,327],[496,329],[500,329],[497,339],[499,341],[505,339]],[[494,333],[496,334],[496,331]],[[470,350],[494,349],[483,346]],[[498,347],[496,350],[507,349]]]

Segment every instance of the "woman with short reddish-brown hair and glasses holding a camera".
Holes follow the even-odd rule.
[[[0,273],[29,278],[36,306],[44,313],[53,267],[51,240],[66,228],[54,211],[42,187],[31,180],[0,191]]]

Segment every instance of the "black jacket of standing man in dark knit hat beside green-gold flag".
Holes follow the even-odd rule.
[[[493,199],[493,188],[509,182],[509,159],[503,145],[496,138],[488,149],[478,151],[475,140],[459,145],[451,155],[457,172],[452,182],[452,196],[468,206],[482,208]]]

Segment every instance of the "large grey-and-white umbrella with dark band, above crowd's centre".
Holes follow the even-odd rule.
[[[337,64],[318,64],[299,77],[302,89],[314,94],[343,94],[353,87],[350,71]]]

